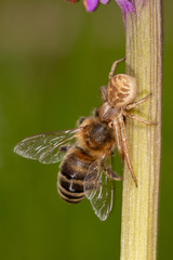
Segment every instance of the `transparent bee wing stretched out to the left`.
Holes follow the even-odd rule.
[[[64,153],[59,151],[59,147],[67,142],[72,142],[80,130],[81,128],[40,133],[21,141],[14,147],[14,152],[42,164],[54,164],[63,158]]]

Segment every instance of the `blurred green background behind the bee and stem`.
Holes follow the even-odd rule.
[[[164,6],[163,156],[158,259],[173,259],[172,6]],[[98,88],[124,56],[124,28],[115,1],[92,14],[82,2],[0,2],[0,259],[119,259],[122,184],[112,214],[101,222],[89,202],[64,203],[58,165],[13,153],[22,139],[74,128],[101,105]],[[121,64],[118,72],[124,72]],[[115,168],[122,173],[121,164]]]

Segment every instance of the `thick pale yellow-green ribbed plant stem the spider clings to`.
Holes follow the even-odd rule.
[[[124,17],[127,74],[135,76],[137,100],[152,93],[137,114],[157,126],[127,120],[129,152],[138,187],[127,165],[122,195],[121,260],[157,258],[161,157],[162,17],[161,0],[134,0],[136,12]],[[133,114],[135,112],[132,112]]]

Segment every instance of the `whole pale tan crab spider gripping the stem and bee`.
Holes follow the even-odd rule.
[[[97,114],[101,121],[107,122],[108,126],[114,129],[117,150],[122,161],[124,159],[127,160],[131,176],[137,186],[137,179],[134,174],[129,155],[124,118],[130,117],[148,126],[155,125],[155,122],[147,121],[129,113],[131,108],[134,108],[136,105],[145,102],[150,94],[138,102],[135,102],[137,96],[137,84],[135,78],[125,74],[114,75],[117,64],[122,61],[124,61],[124,58],[121,58],[112,64],[109,74],[108,88],[105,86],[101,87],[101,94],[104,104],[97,109]]]

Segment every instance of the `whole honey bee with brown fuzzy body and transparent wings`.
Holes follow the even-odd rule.
[[[121,180],[111,167],[115,146],[112,128],[93,116],[81,118],[77,129],[27,138],[14,152],[42,164],[63,159],[57,178],[61,197],[70,204],[86,197],[104,221],[112,208],[114,180]]]

